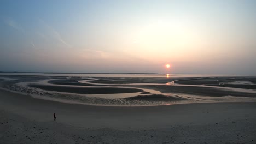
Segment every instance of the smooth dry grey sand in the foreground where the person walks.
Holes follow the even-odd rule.
[[[0,113],[0,143],[256,143],[256,103],[89,106],[0,90]]]

